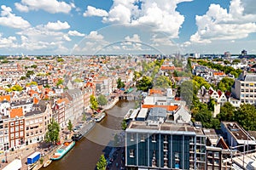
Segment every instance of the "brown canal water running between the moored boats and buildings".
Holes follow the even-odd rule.
[[[96,123],[90,133],[77,142],[66,156],[59,161],[52,161],[49,167],[44,169],[94,170],[99,157],[111,150],[114,144],[114,135],[124,133],[121,130],[121,122],[127,111],[134,106],[135,102],[133,101],[119,101],[111,110],[106,111],[107,116],[102,122]]]

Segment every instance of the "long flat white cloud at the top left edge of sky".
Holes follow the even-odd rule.
[[[21,0],[21,3],[15,3],[15,6],[21,12],[29,10],[45,10],[51,14],[65,13],[68,14],[72,8],[75,8],[74,3],[65,3],[57,0]]]

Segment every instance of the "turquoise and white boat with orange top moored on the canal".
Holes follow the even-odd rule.
[[[52,161],[60,160],[63,156],[67,154],[69,150],[71,150],[76,142],[72,139],[66,140],[61,144],[61,147],[56,150],[54,155],[50,158]]]

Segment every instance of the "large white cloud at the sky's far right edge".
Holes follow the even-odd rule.
[[[230,11],[218,4],[211,4],[206,14],[196,15],[198,30],[191,42],[209,43],[214,40],[235,40],[256,32],[256,15],[244,14],[241,0],[230,2]]]

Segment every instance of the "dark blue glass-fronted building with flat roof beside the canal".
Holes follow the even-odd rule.
[[[127,169],[206,169],[206,137],[190,125],[131,122],[125,131]]]

